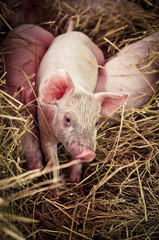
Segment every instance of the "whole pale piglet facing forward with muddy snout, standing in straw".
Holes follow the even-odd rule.
[[[79,164],[70,169],[70,182],[79,182],[82,163],[95,158],[97,123],[124,104],[127,95],[96,93],[101,50],[83,33],[69,31],[54,39],[38,71],[38,120],[41,148],[52,169],[61,142]],[[58,177],[58,173],[54,173]]]

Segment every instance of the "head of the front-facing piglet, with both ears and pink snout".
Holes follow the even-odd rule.
[[[126,101],[127,96],[89,93],[74,85],[68,73],[59,70],[41,85],[39,102],[52,132],[73,159],[95,158],[97,123]]]

